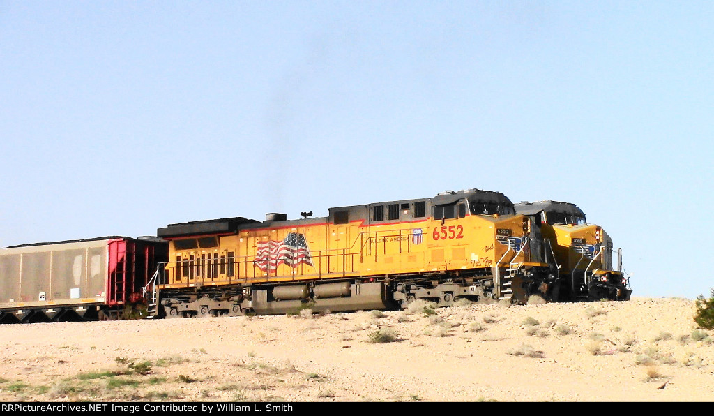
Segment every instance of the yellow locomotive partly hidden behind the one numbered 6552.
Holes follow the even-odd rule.
[[[575,204],[558,201],[521,202],[519,214],[540,222],[543,238],[553,247],[558,265],[558,282],[550,298],[558,301],[629,300],[632,289],[622,272],[622,252],[618,249],[617,269],[613,269],[613,242],[605,230],[588,224],[585,213]]]

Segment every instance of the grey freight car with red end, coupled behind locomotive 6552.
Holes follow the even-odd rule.
[[[167,244],[157,237],[98,237],[0,249],[0,322],[121,317],[147,295]]]

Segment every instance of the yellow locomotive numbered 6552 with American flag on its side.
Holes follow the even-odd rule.
[[[166,317],[398,308],[413,299],[513,299],[548,291],[553,249],[500,192],[169,224],[154,298]],[[157,296],[158,295],[158,296]]]

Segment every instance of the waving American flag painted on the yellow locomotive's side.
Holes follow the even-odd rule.
[[[313,265],[310,249],[303,234],[291,232],[283,241],[258,242],[253,266],[263,272],[274,272],[280,264],[287,264],[293,269],[300,264]]]

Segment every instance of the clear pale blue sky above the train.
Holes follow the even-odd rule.
[[[0,0],[0,247],[488,189],[708,295],[710,1]]]

